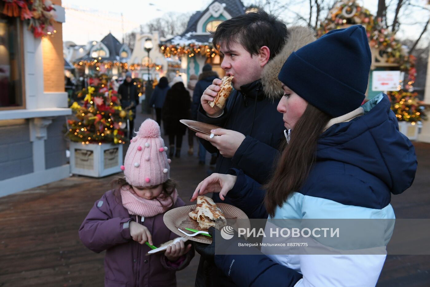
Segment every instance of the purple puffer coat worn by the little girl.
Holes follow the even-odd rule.
[[[174,207],[184,205],[178,197]],[[151,232],[155,246],[178,237],[166,227],[163,215],[144,218],[143,223],[138,217],[139,223]],[[145,256],[151,249],[132,240],[130,220],[136,221],[136,215],[130,215],[121,197],[115,197],[110,190],[95,202],[79,228],[79,237],[86,247],[96,253],[106,250],[104,286],[176,286],[175,271],[190,263],[194,248],[177,262],[169,262],[164,253]]]

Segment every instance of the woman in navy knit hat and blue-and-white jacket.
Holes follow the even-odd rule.
[[[253,250],[254,255],[231,255],[250,251],[238,249],[245,246],[238,244],[242,239],[225,240],[223,232],[215,228],[209,229],[212,244],[196,246],[200,254],[215,256],[218,268],[234,284],[377,283],[393,233],[391,194],[411,186],[417,161],[412,143],[399,132],[387,95],[381,93],[361,105],[371,59],[360,25],[330,31],[292,53],[278,77],[285,92],[277,110],[283,113],[286,141],[270,181],[261,188],[242,171],[230,169],[228,175],[212,174],[198,185],[191,200],[199,194],[219,192],[221,199],[229,197],[251,218],[269,216],[262,253]],[[313,226],[311,236],[306,231],[298,239],[270,238],[270,228],[287,227],[281,219]],[[319,226],[321,219],[341,226],[338,241],[321,232],[327,227]],[[367,233],[356,232],[363,227],[359,222]],[[344,232],[345,228],[350,230]],[[287,242],[310,246],[300,251],[297,246],[288,250],[267,247]]]

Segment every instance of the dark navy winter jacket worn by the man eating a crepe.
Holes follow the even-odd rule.
[[[238,168],[259,183],[264,183],[271,174],[274,160],[279,156],[279,143],[284,138],[282,114],[276,111],[277,102],[264,94],[260,80],[240,88],[240,91],[231,92],[224,114],[218,118],[208,117],[200,105],[198,121],[246,136],[233,158],[218,156],[215,172],[224,174],[229,168]],[[218,152],[208,141],[200,141],[209,153]],[[215,202],[220,202],[218,193],[214,193],[213,198]]]

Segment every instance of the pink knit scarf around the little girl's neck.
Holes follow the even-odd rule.
[[[178,198],[178,191],[172,193],[173,204],[175,204]],[[167,209],[172,205],[172,198],[160,198],[153,200],[147,200],[139,197],[137,194],[131,192],[128,188],[121,188],[121,199],[123,201],[123,206],[132,215],[140,215],[143,217],[151,217],[157,214],[166,212]]]

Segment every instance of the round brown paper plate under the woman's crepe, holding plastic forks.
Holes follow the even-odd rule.
[[[227,225],[230,225],[236,231],[237,231],[237,228],[239,227],[251,228],[251,225],[249,223],[249,218],[242,210],[227,203],[217,203],[216,206],[218,206],[224,213],[224,216],[227,219]],[[211,237],[201,235],[201,234],[198,234],[194,237],[190,237],[178,230],[178,228],[180,228],[183,231],[190,232],[190,233],[191,231],[186,231],[185,228],[192,228],[200,231],[208,231],[206,228],[200,228],[199,224],[197,223],[197,220],[191,219],[190,216],[188,216],[188,213],[190,213],[193,210],[196,210],[196,205],[187,205],[187,206],[181,206],[181,207],[171,209],[168,212],[166,212],[163,216],[164,224],[173,233],[178,234],[181,237],[187,238],[188,240],[193,240],[193,241],[207,243],[207,244],[212,243]]]

